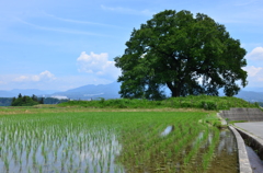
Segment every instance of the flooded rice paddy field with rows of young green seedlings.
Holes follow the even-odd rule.
[[[47,109],[0,112],[1,172],[215,172],[226,158],[222,171],[238,172],[233,138],[208,112]]]

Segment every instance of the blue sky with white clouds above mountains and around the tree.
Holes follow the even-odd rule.
[[[0,90],[69,90],[121,73],[133,28],[163,10],[205,13],[240,39],[250,88],[263,88],[262,0],[0,0]]]

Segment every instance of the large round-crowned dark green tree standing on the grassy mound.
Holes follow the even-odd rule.
[[[245,49],[230,37],[226,27],[209,16],[190,11],[160,12],[133,31],[123,56],[115,58],[122,69],[122,97],[163,97],[162,86],[172,96],[228,96],[245,86]]]

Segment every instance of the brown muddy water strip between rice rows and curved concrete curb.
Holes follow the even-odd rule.
[[[238,173],[238,152],[235,136],[228,129],[220,131],[220,140],[207,173]]]

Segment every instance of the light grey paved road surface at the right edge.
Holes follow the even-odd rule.
[[[263,139],[263,122],[253,122],[253,123],[235,123],[235,126],[238,126],[250,134]]]

